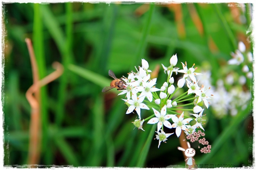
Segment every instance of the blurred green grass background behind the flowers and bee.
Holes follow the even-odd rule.
[[[135,115],[125,115],[124,96],[101,92],[111,81],[108,70],[126,76],[141,58],[154,70],[161,63],[168,66],[177,53],[178,67],[196,63],[198,72],[211,71],[216,85],[238,41],[252,52],[246,41],[251,12],[252,4],[4,4],[4,165],[31,163],[33,127],[25,93],[33,78],[25,38],[32,40],[41,79],[54,71],[54,61],[64,67],[60,78],[41,88],[41,147],[33,164],[184,167],[179,138],[170,136],[159,149],[155,135],[146,143],[152,125],[144,123],[145,132],[133,129]],[[230,68],[242,72],[240,66]],[[161,66],[157,88],[165,76]],[[247,81],[243,89],[251,85]],[[211,106],[204,113],[212,152],[201,153],[192,144],[196,163],[251,165],[252,100],[236,116],[218,118]]]

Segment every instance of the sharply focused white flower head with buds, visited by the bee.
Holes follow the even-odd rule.
[[[163,83],[163,85],[159,88],[156,88],[156,78],[150,79],[151,70],[148,70],[149,64],[146,60],[142,59],[142,67],[139,67],[139,70],[136,68],[137,72],[128,73],[128,77],[124,77],[123,81],[127,85],[125,90],[122,90],[121,94],[126,94],[127,99],[122,99],[125,101],[128,109],[126,114],[130,114],[133,110],[139,116],[139,119],[136,119],[133,124],[138,129],[142,129],[142,125],[144,121],[148,120],[148,124],[157,123],[157,135],[156,139],[159,139],[159,145],[163,141],[167,140],[167,137],[172,135],[173,133],[165,134],[164,126],[166,128],[176,128],[175,133],[177,137],[180,136],[181,131],[183,130],[186,135],[192,134],[195,132],[196,128],[200,127],[204,130],[202,121],[203,111],[204,109],[201,107],[203,104],[208,108],[208,99],[210,97],[206,94],[208,89],[205,89],[205,86],[198,85],[198,81],[196,80],[197,75],[201,75],[201,73],[196,73],[195,70],[197,68],[193,68],[195,64],[191,68],[187,68],[187,63],[182,63],[183,70],[179,68],[174,68],[178,62],[177,55],[173,55],[170,59],[170,66],[164,68],[164,73],[167,72],[167,80]],[[183,78],[181,78],[177,82],[177,86],[174,86],[174,78],[172,77],[172,73],[175,72],[183,73]],[[187,82],[187,87],[185,93],[179,95],[176,98],[174,94],[180,89],[183,88],[185,82]],[[160,92],[159,92],[160,91]],[[159,92],[156,93],[156,92]],[[191,96],[193,95],[194,96]],[[184,104],[186,102],[186,104]],[[184,108],[187,106],[193,105],[193,108]],[[179,107],[179,108],[178,108]],[[152,111],[154,114],[148,116],[147,118],[141,119],[141,110],[147,109]],[[178,113],[180,110],[182,113]],[[196,118],[190,116],[184,116],[184,110],[193,111],[193,115]],[[152,113],[152,112],[151,112]],[[199,113],[199,114],[198,114]],[[180,115],[180,116],[176,116]],[[143,115],[145,116],[145,115]],[[187,117],[184,119],[184,117]],[[169,122],[172,120],[172,123]],[[190,121],[194,120],[194,124],[190,125]],[[144,129],[142,129],[144,130]],[[161,133],[159,132],[161,130]],[[159,147],[158,145],[158,147]]]

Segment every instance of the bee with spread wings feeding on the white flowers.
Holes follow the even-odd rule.
[[[126,84],[123,82],[123,80],[121,78],[116,78],[116,76],[112,70],[108,70],[108,75],[110,77],[114,78],[115,80],[113,80],[110,83],[110,86],[104,87],[101,92],[107,92],[110,89],[113,89],[115,87],[117,88],[117,90],[125,90],[126,89],[126,87],[127,87]]]

